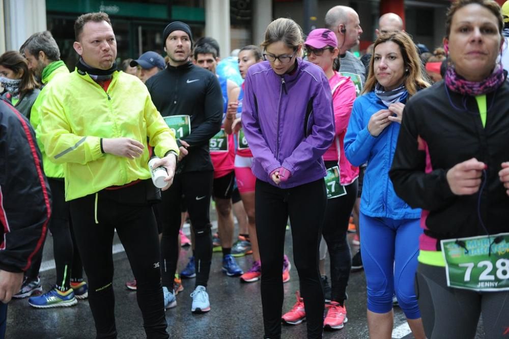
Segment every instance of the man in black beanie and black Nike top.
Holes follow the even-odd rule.
[[[210,310],[207,281],[212,260],[212,235],[209,217],[214,168],[210,160],[209,139],[221,127],[223,99],[217,77],[190,61],[192,33],[181,21],[169,23],[164,31],[164,50],[168,66],[146,85],[152,101],[169,127],[176,131],[180,147],[177,174],[171,188],[162,192],[157,205],[162,223],[161,276],[165,307],[177,304],[174,276],[179,256],[181,200],[185,199],[194,232],[190,274],[196,276],[191,293],[192,313]],[[184,198],[182,198],[184,195]]]

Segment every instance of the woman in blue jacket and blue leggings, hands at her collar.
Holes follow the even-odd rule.
[[[421,211],[394,192],[389,169],[407,99],[429,83],[406,33],[375,41],[370,76],[357,98],[345,136],[354,166],[367,162],[360,202],[362,262],[367,282],[367,324],[372,338],[390,338],[395,294],[416,338],[425,337],[414,292]]]

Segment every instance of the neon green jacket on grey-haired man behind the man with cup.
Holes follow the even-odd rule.
[[[46,68],[51,67],[52,64],[59,63],[58,61],[55,61]],[[69,74],[69,70],[67,69],[67,66],[61,62],[61,66],[54,69],[53,72],[51,72],[49,75],[42,78],[42,83],[47,84],[49,81],[52,81],[53,79],[57,79],[63,74]],[[48,156],[46,155],[46,152],[44,152],[44,145],[41,142],[40,134],[40,126],[41,126],[41,104],[46,97],[47,91],[46,88],[43,87],[41,90],[41,93],[39,93],[39,96],[35,100],[32,110],[30,113],[30,123],[32,124],[32,127],[34,127],[34,130],[36,131],[36,138],[37,138],[37,144],[39,145],[39,148],[41,149],[42,153],[42,165],[44,168],[44,174],[46,177],[49,178],[64,178],[64,166],[61,164],[56,164],[51,161],[49,161]]]

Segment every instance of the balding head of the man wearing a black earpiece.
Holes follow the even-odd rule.
[[[362,34],[359,15],[347,6],[334,6],[328,10],[325,14],[325,27],[336,34],[341,54],[357,45]]]

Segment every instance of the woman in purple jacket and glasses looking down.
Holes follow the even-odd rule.
[[[325,207],[322,155],[334,138],[329,82],[299,58],[303,39],[295,21],[279,18],[265,31],[265,60],[245,79],[242,126],[257,177],[256,228],[262,260],[265,337],[281,335],[281,270],[290,216],[294,262],[305,301],[307,335],[321,338],[324,296],[318,246]]]

